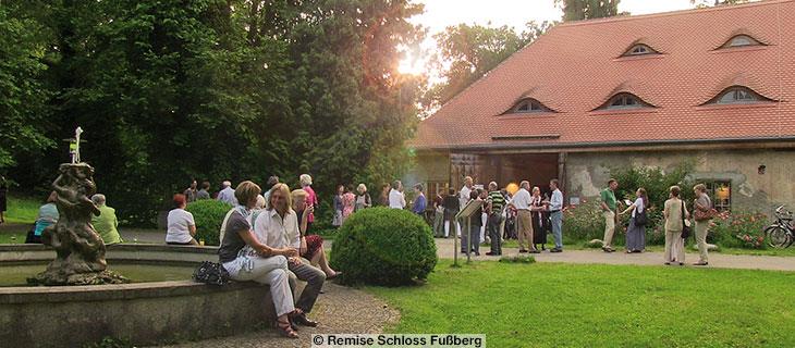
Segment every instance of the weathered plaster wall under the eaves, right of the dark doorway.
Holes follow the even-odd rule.
[[[685,161],[696,181],[732,183],[732,209],[770,214],[778,204],[795,209],[795,150],[705,150],[568,153],[566,197],[596,197],[615,167],[656,166],[663,171]],[[766,166],[759,174],[760,165]]]

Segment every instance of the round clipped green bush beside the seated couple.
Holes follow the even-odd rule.
[[[388,208],[351,215],[331,252],[345,284],[406,285],[425,279],[437,261],[430,226],[416,214]]]

